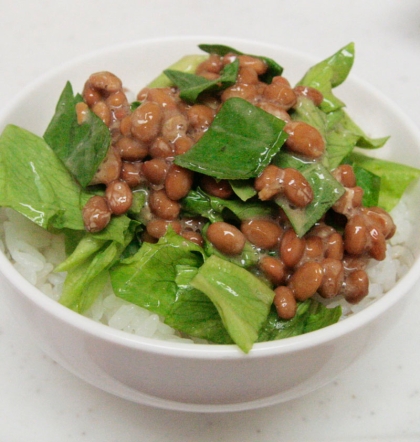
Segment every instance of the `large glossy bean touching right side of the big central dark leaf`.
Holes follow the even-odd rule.
[[[285,147],[308,158],[319,158],[325,151],[325,141],[317,129],[303,121],[291,121],[284,127],[289,135]]]

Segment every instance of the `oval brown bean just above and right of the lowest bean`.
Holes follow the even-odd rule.
[[[305,301],[316,293],[323,274],[321,264],[313,261],[305,262],[290,277],[288,287],[298,301]]]

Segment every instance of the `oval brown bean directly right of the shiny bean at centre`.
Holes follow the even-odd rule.
[[[278,245],[283,229],[271,220],[252,219],[242,222],[241,232],[255,246],[270,250]]]

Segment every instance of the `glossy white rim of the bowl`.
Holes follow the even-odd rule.
[[[40,85],[47,82],[49,79],[63,73],[70,67],[86,62],[92,57],[97,57],[116,51],[119,49],[134,48],[139,45],[160,45],[162,43],[200,43],[208,42],[223,42],[226,45],[246,45],[259,46],[262,50],[271,49],[281,53],[297,57],[308,63],[314,63],[317,60],[313,56],[305,54],[300,51],[295,51],[290,48],[285,48],[273,43],[264,41],[250,40],[235,37],[216,37],[216,36],[167,36],[161,38],[150,38],[133,40],[129,42],[119,43],[111,46],[103,47],[96,51],[83,54],[79,57],[73,58],[37,77],[34,81],[26,85],[22,90],[0,110],[0,129],[2,130],[7,122],[7,116],[17,109],[24,98],[35,91]],[[419,140],[420,145],[420,130],[411,119],[404,114],[404,112],[387,96],[382,94],[374,86],[367,83],[363,79],[350,73],[347,82],[363,88],[379,100],[385,107],[392,108],[393,113],[398,118],[404,120],[406,127],[410,134]],[[262,356],[271,356],[277,354],[285,354],[291,352],[301,351],[305,348],[321,345],[327,342],[334,341],[339,337],[346,335],[355,329],[366,326],[373,319],[381,316],[385,311],[390,309],[397,303],[410,288],[413,287],[420,275],[420,257],[416,257],[415,262],[410,267],[405,275],[403,275],[397,284],[387,293],[374,301],[372,304],[366,306],[363,310],[356,314],[339,321],[336,324],[316,330],[304,335],[293,336],[277,341],[261,342],[254,344],[253,348],[248,354],[244,354],[236,345],[218,345],[218,344],[197,344],[184,343],[174,341],[164,341],[154,338],[147,338],[137,335],[132,335],[127,332],[114,329],[108,325],[96,322],[79,313],[76,313],[67,307],[64,307],[59,302],[48,297],[42,293],[38,288],[27,281],[12,265],[6,255],[0,251],[0,273],[6,278],[10,286],[17,289],[21,295],[27,298],[30,302],[42,308],[44,312],[52,315],[56,320],[64,321],[67,325],[79,329],[82,332],[88,333],[91,336],[102,338],[110,341],[116,345],[128,346],[134,349],[147,351],[150,353],[160,353],[167,356],[174,356],[180,358],[201,358],[201,359],[232,359],[232,358],[257,358]]]

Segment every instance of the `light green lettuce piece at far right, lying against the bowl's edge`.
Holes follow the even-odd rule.
[[[359,152],[352,152],[346,162],[360,166],[381,179],[378,206],[391,211],[401,199],[407,187],[420,178],[420,170],[393,161],[371,158]]]

